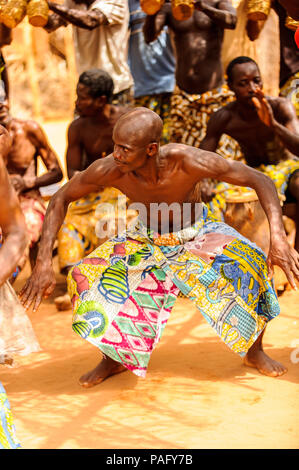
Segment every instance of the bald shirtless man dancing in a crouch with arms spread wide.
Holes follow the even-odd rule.
[[[278,264],[296,288],[299,254],[287,242],[275,186],[263,173],[212,152],[184,144],[160,148],[162,127],[149,109],[128,112],[114,127],[112,154],[54,195],[22,303],[36,310],[53,291],[52,247],[68,204],[113,186],[139,203],[140,218],[69,273],[73,329],[105,355],[81,377],[81,385],[91,387],[125,368],[144,376],[180,291],[247,365],[279,376],[286,369],[264,353],[260,340],[266,323],[279,313],[269,276]],[[194,187],[204,178],[255,189],[271,231],[267,260],[249,240],[210,218],[205,205],[193,203]]]

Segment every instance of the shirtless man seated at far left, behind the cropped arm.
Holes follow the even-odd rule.
[[[62,179],[62,170],[41,126],[32,120],[12,117],[7,99],[0,100],[0,124],[11,137],[5,164],[25,216],[30,236],[29,255],[33,262],[46,212],[39,188],[58,183]],[[38,157],[47,169],[41,176],[37,176]],[[25,262],[26,256],[19,261],[18,268],[22,269]]]

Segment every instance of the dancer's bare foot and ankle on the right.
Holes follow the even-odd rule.
[[[287,368],[280,362],[274,361],[263,350],[262,339],[265,330],[260,334],[255,343],[248,350],[244,364],[256,368],[261,374],[270,377],[279,377],[287,372]]]

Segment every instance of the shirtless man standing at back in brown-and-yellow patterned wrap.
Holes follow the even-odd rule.
[[[192,16],[183,21],[173,17],[166,1],[155,15],[147,15],[143,32],[146,42],[157,38],[168,26],[176,50],[176,88],[171,101],[171,142],[199,147],[207,122],[214,111],[234,99],[224,83],[221,50],[225,29],[234,29],[236,10],[230,0],[194,2]],[[223,137],[218,153],[238,159],[239,148]]]

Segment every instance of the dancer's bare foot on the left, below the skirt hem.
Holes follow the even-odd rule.
[[[111,375],[120,374],[126,370],[128,369],[119,362],[114,361],[110,357],[103,357],[101,362],[94,369],[80,377],[79,384],[85,388],[94,387],[108,377],[111,377]]]

